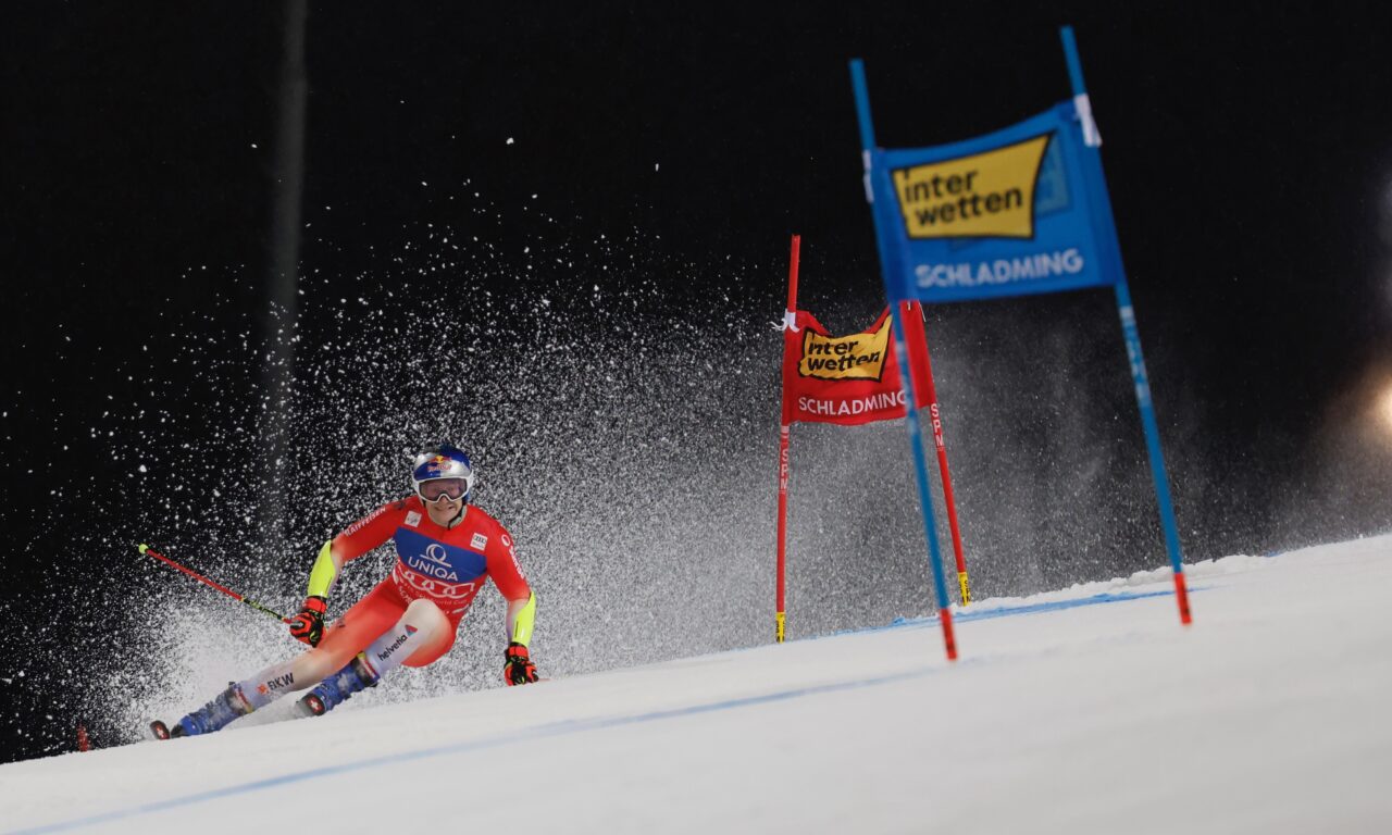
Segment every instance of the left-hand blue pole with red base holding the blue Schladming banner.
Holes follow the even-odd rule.
[[[923,536],[928,541],[928,562],[933,565],[933,587],[938,598],[938,621],[942,623],[942,643],[948,661],[956,661],[956,637],[952,630],[952,610],[948,608],[948,586],[942,572],[942,554],[938,548],[938,529],[933,516],[933,494],[928,491],[928,465],[923,451],[923,433],[919,427],[919,401],[913,397],[913,365],[905,348],[903,306],[891,291],[889,276],[899,269],[898,249],[887,239],[888,230],[880,223],[880,207],[874,202],[870,178],[874,177],[870,164],[874,153],[874,127],[870,122],[870,95],[866,88],[864,67],[859,58],[851,61],[851,82],[856,93],[856,118],[860,121],[860,153],[864,163],[866,202],[874,220],[876,248],[880,250],[880,276],[884,280],[885,298],[889,302],[889,319],[894,321],[894,356],[899,363],[899,381],[903,387],[903,426],[909,431],[909,447],[913,450],[913,469],[919,483],[919,501],[923,505]],[[892,260],[891,260],[892,259]]]

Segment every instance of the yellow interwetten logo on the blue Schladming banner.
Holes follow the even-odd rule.
[[[1050,136],[891,171],[909,238],[1033,238]]]

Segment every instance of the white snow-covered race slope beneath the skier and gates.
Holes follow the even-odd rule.
[[[0,831],[1389,832],[1392,537],[0,765]],[[384,686],[390,686],[390,682]]]

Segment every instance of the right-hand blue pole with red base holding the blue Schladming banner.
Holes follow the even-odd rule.
[[[1151,405],[1150,380],[1146,376],[1146,359],[1140,352],[1140,331],[1136,328],[1136,309],[1132,305],[1130,289],[1126,285],[1126,269],[1122,264],[1121,245],[1116,242],[1116,224],[1112,220],[1112,202],[1107,193],[1107,181],[1102,173],[1101,136],[1093,124],[1093,109],[1087,99],[1087,88],[1083,85],[1083,64],[1077,57],[1077,45],[1073,42],[1073,28],[1062,26],[1059,33],[1063,38],[1063,54],[1068,58],[1068,75],[1073,84],[1073,103],[1079,117],[1083,120],[1083,136],[1090,146],[1084,153],[1084,160],[1090,171],[1087,177],[1091,191],[1093,205],[1101,217],[1094,218],[1098,246],[1104,250],[1104,266],[1111,267],[1115,277],[1112,289],[1116,295],[1116,312],[1122,320],[1122,335],[1126,340],[1126,356],[1130,360],[1132,381],[1136,384],[1136,405],[1140,406],[1140,423],[1146,431],[1146,450],[1150,454],[1150,473],[1155,480],[1155,504],[1160,507],[1160,523],[1165,532],[1165,550],[1169,552],[1169,565],[1175,575],[1175,601],[1179,604],[1179,622],[1190,623],[1189,590],[1185,586],[1185,561],[1179,548],[1179,526],[1175,523],[1175,505],[1169,497],[1169,476],[1165,473],[1165,456],[1160,448],[1160,426],[1155,423],[1155,409]]]

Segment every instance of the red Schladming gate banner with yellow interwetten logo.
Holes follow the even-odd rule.
[[[931,392],[923,312],[917,302],[902,303],[901,312],[917,384],[915,399],[922,409]],[[903,418],[888,308],[867,330],[848,337],[832,337],[816,316],[798,310],[784,326],[782,376],[784,426],[798,420],[849,426]]]

